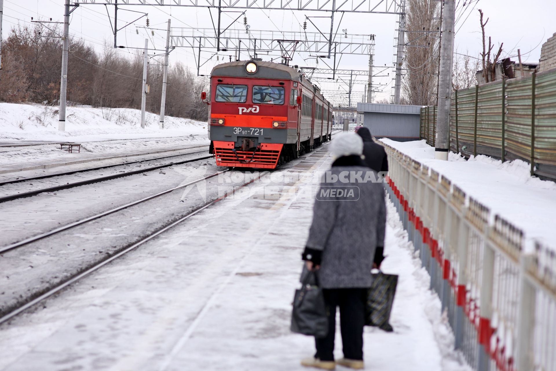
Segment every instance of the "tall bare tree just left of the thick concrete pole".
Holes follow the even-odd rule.
[[[440,4],[435,0],[406,3],[404,98],[411,105],[436,103],[439,61]]]

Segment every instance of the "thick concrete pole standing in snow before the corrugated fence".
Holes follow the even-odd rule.
[[[438,85],[438,120],[434,158],[448,161],[451,75],[454,63],[455,0],[445,0],[442,14],[442,41]]]

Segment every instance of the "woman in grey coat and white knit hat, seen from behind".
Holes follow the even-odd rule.
[[[318,270],[329,309],[329,331],[326,338],[315,339],[315,357],[301,364],[320,369],[334,369],[336,364],[362,369],[366,291],[371,285],[375,250],[384,247],[384,187],[361,159],[361,137],[340,133],[330,146],[334,162],[317,190],[302,254],[305,270]],[[344,358],[335,362],[336,306],[340,308]]]

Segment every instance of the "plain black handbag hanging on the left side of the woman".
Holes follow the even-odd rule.
[[[291,312],[291,331],[297,334],[325,338],[328,334],[328,313],[316,272],[310,271],[295,290]]]

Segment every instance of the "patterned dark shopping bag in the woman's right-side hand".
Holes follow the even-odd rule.
[[[390,325],[390,313],[398,285],[395,274],[372,273],[373,283],[367,293],[365,308],[365,325],[375,326],[387,332],[394,329]]]

